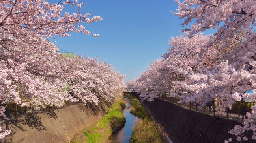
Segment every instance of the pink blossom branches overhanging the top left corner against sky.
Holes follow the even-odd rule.
[[[66,4],[77,6],[77,13],[63,13],[62,9]],[[56,4],[50,4],[46,0],[1,0],[0,33],[7,35],[1,43],[33,34],[47,38],[56,35],[69,36],[67,33],[71,31],[91,34],[78,23],[91,23],[102,18],[99,16],[89,18],[90,13],[80,13],[82,5],[84,3],[79,4],[77,0],[61,0]],[[61,16],[62,14],[64,16]]]

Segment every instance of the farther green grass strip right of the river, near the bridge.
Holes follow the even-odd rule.
[[[132,96],[130,94],[123,94],[123,96],[129,98],[129,100],[131,101],[131,114],[134,114],[135,116],[142,119],[146,117],[150,118],[148,111],[145,109],[145,107],[141,105],[140,101],[135,96]]]

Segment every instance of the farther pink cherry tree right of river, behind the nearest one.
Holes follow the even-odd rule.
[[[184,91],[183,86],[189,82],[191,74],[202,74],[202,69],[215,64],[219,52],[212,46],[206,47],[209,37],[200,33],[192,38],[186,35],[171,38],[171,47],[163,58],[151,63],[138,79],[129,84],[140,83],[133,88],[141,92],[143,100],[171,94],[174,89],[176,94],[180,93],[177,91]]]

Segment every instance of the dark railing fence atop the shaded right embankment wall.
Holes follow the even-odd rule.
[[[225,106],[224,101],[213,101],[211,106],[203,107],[202,109],[198,109],[198,104],[196,103],[177,103],[181,99],[178,98],[169,98],[166,96],[160,97],[163,100],[175,103],[182,107],[185,107],[190,110],[194,110],[196,112],[202,112],[206,114],[213,114],[214,116],[221,116],[227,119],[235,119],[239,121],[243,121],[247,119],[246,113],[251,112],[252,109],[250,108],[253,105],[256,105],[254,102],[239,102],[236,101],[234,104],[229,105],[228,107]],[[256,119],[254,119],[256,121]]]

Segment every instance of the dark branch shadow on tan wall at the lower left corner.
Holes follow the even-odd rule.
[[[5,129],[11,130],[11,134],[7,136],[7,138],[3,138],[0,140],[0,143],[21,143],[25,138],[16,140],[13,135],[17,132],[26,132],[27,129],[24,129],[24,126],[28,126],[31,129],[36,129],[39,132],[42,130],[46,130],[45,126],[41,122],[41,118],[37,115],[27,116],[24,118],[11,119],[9,121],[2,121],[0,126],[5,126]]]

